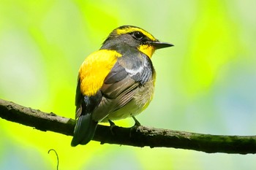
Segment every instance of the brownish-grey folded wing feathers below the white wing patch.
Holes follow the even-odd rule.
[[[124,107],[136,93],[139,82],[135,82],[125,71],[124,67],[116,63],[111,72],[105,78],[102,85],[102,101],[94,109],[92,119],[101,121],[110,112]]]

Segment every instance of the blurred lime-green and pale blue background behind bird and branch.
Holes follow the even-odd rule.
[[[140,123],[206,134],[256,134],[256,1],[0,1],[0,98],[75,117],[78,69],[122,25],[158,50],[154,100]],[[133,125],[132,119],[118,121]],[[90,142],[0,119],[0,169],[256,169],[255,155]]]

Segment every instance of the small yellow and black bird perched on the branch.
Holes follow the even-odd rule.
[[[71,146],[93,139],[98,123],[133,117],[154,96],[155,50],[173,45],[160,42],[143,28],[119,26],[82,63],[75,95],[75,130]]]

